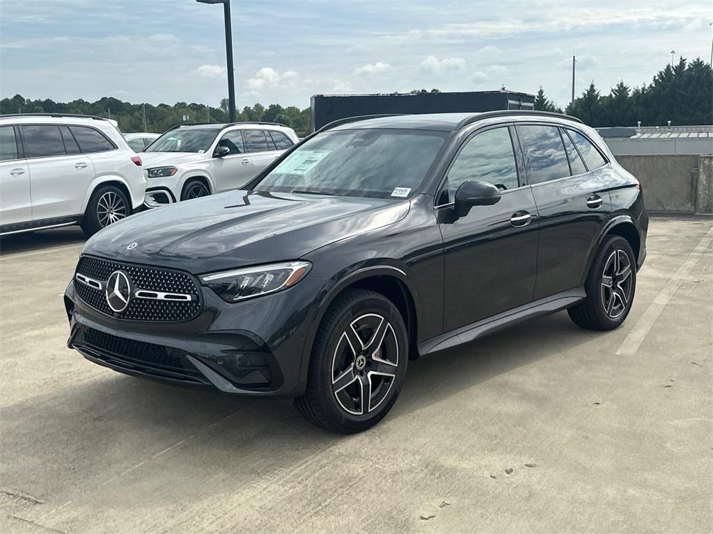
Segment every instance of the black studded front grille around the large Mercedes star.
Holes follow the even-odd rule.
[[[128,274],[131,283],[136,289],[195,295],[195,298],[185,301],[133,298],[128,308],[122,313],[116,314],[109,308],[103,290],[87,286],[81,282],[75,282],[76,294],[91,308],[111,317],[125,320],[146,323],[176,323],[191,320],[200,313],[200,292],[188,273],[138,266],[132,263],[108,261],[94,258],[93,256],[79,258],[76,272],[101,281],[106,285],[111,273],[119,270]]]

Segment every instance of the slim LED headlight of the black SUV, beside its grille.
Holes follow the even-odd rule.
[[[232,303],[291,288],[309,273],[310,268],[312,263],[308,261],[273,263],[236,271],[205,274],[200,277],[200,281],[220,295],[222,300]]]

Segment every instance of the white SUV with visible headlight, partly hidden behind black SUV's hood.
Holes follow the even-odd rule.
[[[276,122],[175,126],[141,152],[145,206],[240,189],[295,143],[294,130]]]

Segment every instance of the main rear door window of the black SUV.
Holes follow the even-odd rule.
[[[525,150],[530,184],[540,184],[570,176],[565,147],[556,126],[518,126]]]

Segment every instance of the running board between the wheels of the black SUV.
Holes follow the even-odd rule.
[[[583,300],[586,296],[587,293],[585,293],[584,286],[580,286],[547,298],[540,298],[540,300],[535,300],[532,303],[498,313],[493,317],[461,326],[456,330],[422,341],[419,343],[419,355],[424,356],[431,354],[431,352],[456,347],[462,343],[471,342],[478,337],[483,337],[483,335],[491,334],[496,330],[507,328],[515,323],[564,310]]]

